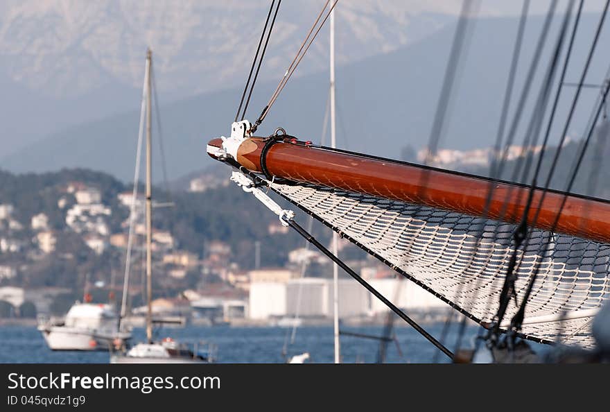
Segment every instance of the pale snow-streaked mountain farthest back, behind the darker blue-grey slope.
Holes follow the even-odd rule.
[[[437,4],[435,4],[437,3]],[[146,47],[164,101],[245,81],[268,0],[4,0],[0,4],[1,155],[67,126],[137,105]],[[323,1],[284,2],[261,80],[284,73]],[[456,7],[456,5],[458,7]],[[346,1],[337,61],[385,53],[433,33],[459,3]],[[322,33],[327,33],[324,31]],[[326,65],[321,35],[296,76]]]

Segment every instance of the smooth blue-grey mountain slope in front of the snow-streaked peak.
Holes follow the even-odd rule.
[[[582,70],[597,19],[597,15],[583,17],[582,30],[568,69],[568,80],[576,80]],[[553,28],[556,29],[557,25],[558,19]],[[541,17],[530,18],[516,84],[518,91],[529,67],[540,27]],[[406,144],[415,148],[426,145],[454,30],[454,26],[447,26],[415,44],[338,69],[340,146],[396,157],[394,154],[399,153]],[[444,146],[465,149],[493,144],[515,31],[514,18],[480,19],[474,26],[467,59],[455,87],[451,120],[446,122],[444,128]],[[553,42],[555,33],[556,30],[550,35]],[[598,50],[607,49],[609,37],[609,31],[605,30]],[[546,47],[542,57],[543,67],[548,63],[550,48]],[[604,76],[605,65],[604,56],[598,53],[587,80],[599,83]],[[536,93],[539,78],[536,76],[532,88]],[[275,84],[266,82],[257,87],[248,114],[250,119],[259,114]],[[270,134],[276,127],[283,126],[302,139],[320,141],[327,87],[325,72],[291,80],[259,129],[261,135]],[[573,90],[564,89],[557,119],[564,119]],[[239,88],[223,89],[162,105],[164,144],[171,178],[201,169],[211,162],[204,153],[205,144],[212,137],[228,134],[239,96]],[[518,92],[513,102],[517,96]],[[573,127],[570,128],[572,137],[578,137],[584,130],[584,123],[597,96],[598,92],[594,89],[583,92],[580,110],[577,110]],[[161,98],[164,98],[163,94]],[[139,119],[137,99],[134,99],[132,107],[131,112],[55,133],[40,143],[5,157],[2,165],[21,172],[88,166],[130,180]],[[530,105],[525,108],[524,124],[529,119],[530,109]],[[555,129],[552,141],[558,139],[559,127]],[[521,139],[521,135],[517,135],[517,139]],[[156,150],[156,153],[159,151]],[[157,163],[157,180],[161,177],[160,170]]]

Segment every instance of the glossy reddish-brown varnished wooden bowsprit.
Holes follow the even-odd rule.
[[[220,139],[209,142],[210,146],[220,147],[221,144]],[[258,137],[246,139],[238,149],[237,161],[250,171],[261,172],[263,146],[263,141]],[[489,180],[485,178],[290,143],[274,144],[267,153],[266,165],[277,178],[322,184],[471,216],[484,214],[489,191]],[[487,213],[489,218],[500,218],[509,191],[503,221],[521,221],[529,188],[506,182],[495,184]],[[534,191],[528,214],[530,225],[541,193],[541,189]],[[563,198],[564,195],[556,191],[547,192],[540,208],[537,228],[552,228]],[[568,196],[555,232],[610,243],[610,203],[583,196]]]

